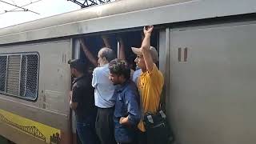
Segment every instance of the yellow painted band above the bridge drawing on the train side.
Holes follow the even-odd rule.
[[[18,126],[35,126],[36,129],[38,129],[46,137],[46,143],[50,143],[50,136],[52,136],[53,134],[57,134],[57,133],[61,134],[61,131],[58,129],[55,129],[54,127],[46,126],[39,122],[34,122],[28,118],[23,118],[17,114],[12,114],[6,110],[0,109],[0,114],[2,114],[2,116],[4,118],[6,118],[8,121],[10,121],[11,123],[18,124]],[[1,119],[0,119],[0,122],[2,122]],[[8,122],[6,124],[8,124]],[[16,127],[16,126],[14,126],[14,127]],[[20,129],[18,129],[18,130],[20,130]],[[23,132],[26,133],[25,131],[23,131]]]

